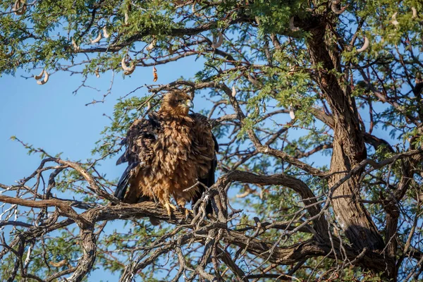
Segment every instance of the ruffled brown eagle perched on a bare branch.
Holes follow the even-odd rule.
[[[188,114],[192,106],[187,93],[173,90],[164,95],[159,111],[130,125],[122,141],[125,152],[116,162],[127,162],[128,167],[115,197],[125,203],[159,202],[169,218],[177,209],[188,216],[185,204],[194,206],[206,187],[214,184],[219,150],[207,117]],[[210,202],[206,213],[212,213]],[[157,219],[150,221],[158,224]]]

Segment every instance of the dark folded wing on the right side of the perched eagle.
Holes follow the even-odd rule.
[[[202,173],[198,180],[207,187],[211,187],[215,182],[214,173],[217,166],[216,153],[219,152],[219,145],[217,143],[216,137],[212,133],[212,126],[209,123],[207,117],[202,116],[201,114],[190,114],[191,118],[195,120],[195,126],[193,132],[195,133],[195,145],[200,148],[202,154],[207,154],[209,157],[209,170],[206,173]],[[202,197],[205,188],[203,185],[200,185],[200,189],[197,194],[192,197],[192,204],[195,204]],[[206,206],[207,214],[213,212],[212,204],[207,203]]]

